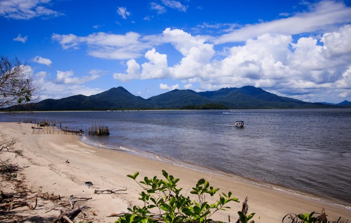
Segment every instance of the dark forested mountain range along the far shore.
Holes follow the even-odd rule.
[[[350,107],[327,103],[309,103],[281,97],[259,87],[221,88],[195,92],[173,90],[148,99],[134,96],[123,87],[114,87],[99,94],[75,95],[62,99],[46,99],[33,104],[32,110],[127,110],[127,109],[282,109]]]

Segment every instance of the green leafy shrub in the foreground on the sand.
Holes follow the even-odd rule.
[[[132,178],[144,189],[138,198],[144,205],[128,208],[130,213],[124,214],[115,223],[206,223],[212,221],[211,216],[218,210],[230,209],[226,206],[229,202],[239,202],[238,198],[232,197],[232,192],[228,192],[220,194],[216,202],[208,203],[205,200],[206,196],[214,196],[219,189],[210,186],[205,179],[200,179],[190,191],[196,197],[192,200],[180,193],[183,188],[177,188],[179,179],[168,175],[164,170],[162,175],[165,179],[159,179],[157,176],[144,177],[143,181],[138,182],[138,175],[139,172],[135,172],[127,177]],[[254,215],[252,213],[246,216],[241,211],[238,213],[243,223],[247,223]]]

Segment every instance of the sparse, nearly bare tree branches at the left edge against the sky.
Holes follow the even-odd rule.
[[[26,105],[39,100],[40,84],[33,83],[29,65],[15,58],[0,56],[0,109],[26,109]]]

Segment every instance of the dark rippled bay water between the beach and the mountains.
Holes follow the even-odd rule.
[[[2,122],[103,123],[110,136],[81,139],[188,168],[351,204],[351,109],[38,112]],[[234,126],[245,121],[245,128]]]

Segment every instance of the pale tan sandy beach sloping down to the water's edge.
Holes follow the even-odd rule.
[[[144,176],[157,175],[162,177],[161,170],[166,170],[174,177],[180,178],[179,186],[184,188],[184,192],[190,191],[189,189],[196,184],[198,179],[211,178],[209,173],[186,169],[127,152],[87,145],[80,141],[80,136],[76,135],[38,134],[38,132],[32,134],[31,124],[0,123],[0,135],[2,140],[11,137],[18,140],[14,147],[22,150],[23,156],[15,158],[13,162],[29,166],[23,169],[21,176],[19,176],[24,178],[27,188],[31,189],[32,192],[59,194],[65,196],[63,199],[66,201],[71,195],[92,197],[88,201],[77,202],[76,205],[83,209],[87,215],[86,218],[92,219],[94,222],[114,222],[117,217],[107,217],[107,215],[126,210],[128,204],[140,204],[138,194],[141,188],[132,179],[126,177],[128,174],[139,171],[139,180],[141,180]],[[69,163],[66,163],[67,159]],[[85,186],[86,181],[93,182],[93,186]],[[0,186],[4,183],[2,182]],[[341,217],[339,223],[340,221],[351,221],[351,210],[343,206],[320,202],[272,188],[217,175],[212,175],[211,186],[219,188],[219,192],[232,191],[234,197],[240,200],[240,203],[232,202],[229,211],[216,213],[213,219],[218,221],[228,221],[228,215],[230,215],[232,222],[236,221],[237,212],[241,210],[241,202],[246,196],[249,197],[249,213],[256,213],[253,218],[255,222],[278,223],[282,222],[282,218],[289,213],[320,212],[322,207],[325,208],[330,221],[337,221],[339,217]],[[2,187],[1,190],[5,189],[4,186]],[[96,189],[127,190],[121,191],[119,194],[98,195],[93,193]],[[209,201],[213,199],[212,197],[208,198]],[[214,199],[217,198],[218,196],[215,195]],[[54,207],[53,204],[38,203],[38,208],[35,210],[22,208],[22,211],[15,213],[28,216],[29,220],[26,222],[51,222],[59,215],[60,209],[69,210],[70,208],[68,206]],[[97,216],[93,216],[91,210],[94,210]],[[82,217],[82,215],[78,215],[74,221],[85,221]]]

